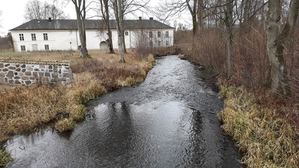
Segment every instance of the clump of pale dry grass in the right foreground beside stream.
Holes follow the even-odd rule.
[[[298,168],[299,129],[278,117],[274,109],[256,104],[245,87],[221,86],[225,108],[218,115],[246,155],[249,168]]]

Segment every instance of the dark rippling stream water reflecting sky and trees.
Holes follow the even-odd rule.
[[[223,102],[203,71],[177,55],[156,58],[146,80],[86,104],[73,131],[50,127],[16,135],[6,167],[239,168],[238,149],[223,135]]]

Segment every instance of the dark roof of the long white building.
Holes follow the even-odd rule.
[[[100,26],[104,25],[103,20],[86,20],[86,29],[99,29]],[[110,20],[111,29],[116,29],[115,20]],[[174,29],[164,23],[157,20],[125,20],[125,29]],[[56,30],[75,30],[78,29],[77,20],[65,20],[57,19],[51,20],[31,20],[11,30],[45,30],[45,29],[56,29]]]

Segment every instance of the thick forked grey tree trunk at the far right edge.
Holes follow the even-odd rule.
[[[298,19],[299,0],[291,0],[286,24],[280,32],[281,5],[281,0],[269,0],[267,49],[271,66],[271,90],[275,93],[289,95],[291,92],[284,58],[284,45],[294,32]]]

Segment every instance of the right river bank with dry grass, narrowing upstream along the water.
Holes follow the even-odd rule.
[[[192,56],[180,56],[202,64]],[[245,86],[207,69],[206,82],[219,87],[224,109],[218,114],[222,129],[245,153],[242,164],[249,168],[297,168],[299,166],[298,104],[264,101]],[[274,103],[269,103],[273,101]]]

